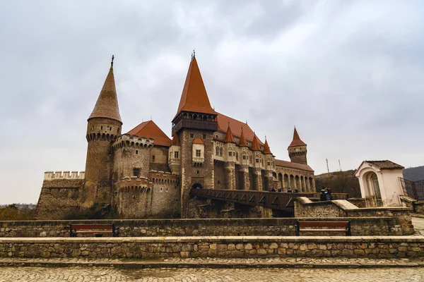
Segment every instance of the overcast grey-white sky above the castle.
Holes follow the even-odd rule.
[[[0,203],[84,170],[112,54],[125,132],[170,136],[195,48],[212,106],[278,159],[295,125],[316,174],[424,164],[423,1],[2,1],[0,42]]]

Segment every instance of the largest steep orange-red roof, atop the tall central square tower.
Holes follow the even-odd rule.
[[[181,99],[177,115],[181,111],[194,111],[204,114],[217,114],[211,107],[208,94],[204,82],[201,78],[199,66],[197,66],[196,58],[193,57],[190,62],[187,78],[182,90]]]

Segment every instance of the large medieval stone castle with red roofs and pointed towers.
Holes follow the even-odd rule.
[[[128,218],[189,218],[192,188],[315,191],[307,145],[297,130],[290,161],[276,159],[247,123],[212,109],[195,56],[172,119],[172,139],[153,121],[122,134],[113,57],[86,139],[85,171],[45,172],[37,219],[105,207]]]

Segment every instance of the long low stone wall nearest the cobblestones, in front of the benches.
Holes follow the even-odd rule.
[[[423,257],[411,237],[0,238],[0,257]]]

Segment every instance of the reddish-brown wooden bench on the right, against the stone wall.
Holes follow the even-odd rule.
[[[343,232],[351,236],[351,221],[297,221],[296,236],[305,232]]]

